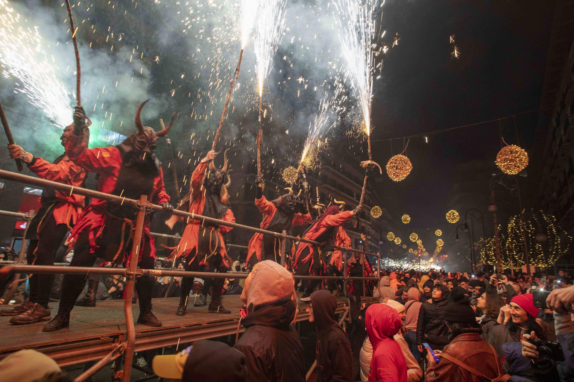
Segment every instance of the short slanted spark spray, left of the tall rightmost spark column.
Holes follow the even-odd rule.
[[[301,162],[307,163],[306,159],[309,156],[308,154],[310,150],[314,148],[319,149],[320,146],[324,146],[324,143],[320,143],[319,139],[321,138],[321,135],[327,132],[329,127],[335,123],[333,122],[325,128],[330,115],[329,111],[333,111],[333,108],[335,108],[340,102],[340,96],[344,90],[343,84],[340,83],[338,79],[335,81],[335,85],[333,85],[333,87],[335,90],[333,91],[332,96],[329,96],[325,91],[325,96],[319,103],[319,112],[315,115],[313,122],[309,123],[309,134],[305,140],[305,146],[303,147],[303,153],[301,154]]]

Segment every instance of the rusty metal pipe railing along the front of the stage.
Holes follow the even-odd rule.
[[[134,208],[138,209],[137,217],[135,221],[134,227],[134,239],[133,243],[141,243],[142,238],[142,231],[144,228],[144,220],[147,211],[164,211],[164,209],[160,205],[152,204],[148,202],[148,197],[142,195],[139,200],[129,199],[126,197],[121,197],[117,195],[107,194],[95,190],[85,189],[74,187],[70,185],[60,184],[57,182],[52,182],[49,180],[44,180],[41,178],[26,176],[24,174],[13,173],[11,171],[0,170],[0,178],[15,182],[21,182],[28,185],[40,186],[45,187],[49,186],[53,189],[60,190],[69,194],[75,193],[83,196],[89,196],[92,198],[98,198],[100,200],[106,200],[110,202],[117,202],[119,204],[129,204]],[[15,217],[25,217],[20,213],[10,213]],[[212,223],[218,225],[226,225],[232,228],[243,229],[245,231],[262,233],[263,235],[270,235],[281,239],[281,263],[284,264],[285,262],[285,241],[286,239],[300,241],[304,243],[309,243],[313,245],[320,245],[319,242],[308,240],[306,238],[290,236],[286,234],[286,231],[282,233],[267,231],[266,229],[250,227],[248,225],[238,224],[238,223],[231,223],[229,221],[214,219],[208,216],[202,216],[196,214],[194,212],[185,212],[174,210],[172,212],[173,215],[181,216],[187,218],[187,223],[189,220],[197,220],[201,221],[201,224],[204,223]],[[29,221],[33,217],[33,211],[27,216],[27,220]],[[29,227],[29,224],[26,224],[26,230]],[[132,245],[131,249],[131,256],[129,258],[129,262],[126,264],[125,268],[98,268],[98,267],[71,267],[71,266],[36,266],[36,265],[24,265],[24,254],[25,254],[25,237],[26,237],[26,230],[24,232],[24,240],[22,240],[22,248],[20,251],[20,255],[18,256],[18,264],[10,266],[13,268],[15,272],[26,272],[26,273],[37,273],[37,274],[107,274],[107,275],[123,275],[126,277],[126,287],[125,287],[125,300],[124,300],[124,314],[126,319],[126,341],[122,344],[122,347],[125,348],[125,361],[124,361],[124,369],[119,371],[115,378],[121,379],[122,381],[129,381],[131,375],[131,365],[133,364],[133,356],[134,356],[134,346],[135,346],[135,326],[133,320],[133,312],[131,310],[131,298],[133,297],[134,293],[134,286],[135,286],[135,279],[141,275],[154,275],[154,276],[183,276],[183,277],[201,277],[201,278],[228,278],[230,274],[227,272],[225,273],[217,273],[217,272],[189,272],[189,271],[178,271],[178,270],[164,270],[164,269],[141,269],[137,267],[137,260],[133,261],[133,259],[139,258],[139,245]],[[165,235],[165,234],[159,234]],[[175,237],[175,235],[174,235]],[[296,279],[327,279],[327,280],[343,280],[344,281],[344,290],[346,289],[347,280],[378,280],[379,275],[381,272],[381,262],[379,261],[379,255],[373,254],[371,252],[355,250],[353,248],[346,248],[346,247],[338,247],[336,245],[329,246],[329,249],[338,249],[342,251],[348,252],[356,252],[359,254],[375,256],[377,258],[377,277],[349,277],[346,276],[347,272],[347,262],[344,264],[344,274],[345,276],[294,276]],[[233,276],[235,278],[246,278],[246,273],[234,272]],[[113,353],[113,354],[112,354]],[[92,366],[88,371],[84,372],[80,379],[76,379],[76,381],[80,382],[85,380],[87,377],[93,375],[99,369],[102,369],[107,362],[104,360],[111,360],[115,354],[117,354],[117,349],[114,349],[113,352],[108,354],[103,360],[97,362],[94,366]],[[127,367],[125,366],[127,365]]]

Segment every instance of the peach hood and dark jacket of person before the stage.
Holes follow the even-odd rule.
[[[234,346],[245,354],[247,380],[303,382],[303,346],[291,325],[297,310],[293,276],[271,260],[258,263],[253,272],[247,317],[241,321],[246,329]]]

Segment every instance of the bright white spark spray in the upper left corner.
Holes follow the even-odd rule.
[[[72,122],[69,93],[56,76],[59,68],[36,26],[26,26],[7,0],[0,0],[0,62],[6,78],[17,79],[14,92],[44,110],[52,124],[64,128]],[[49,48],[49,46],[48,46]]]

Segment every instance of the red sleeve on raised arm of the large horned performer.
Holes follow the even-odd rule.
[[[115,147],[96,147],[87,149],[83,137],[70,134],[66,142],[66,154],[80,167],[92,173],[104,173],[114,169],[121,159],[119,150]]]

